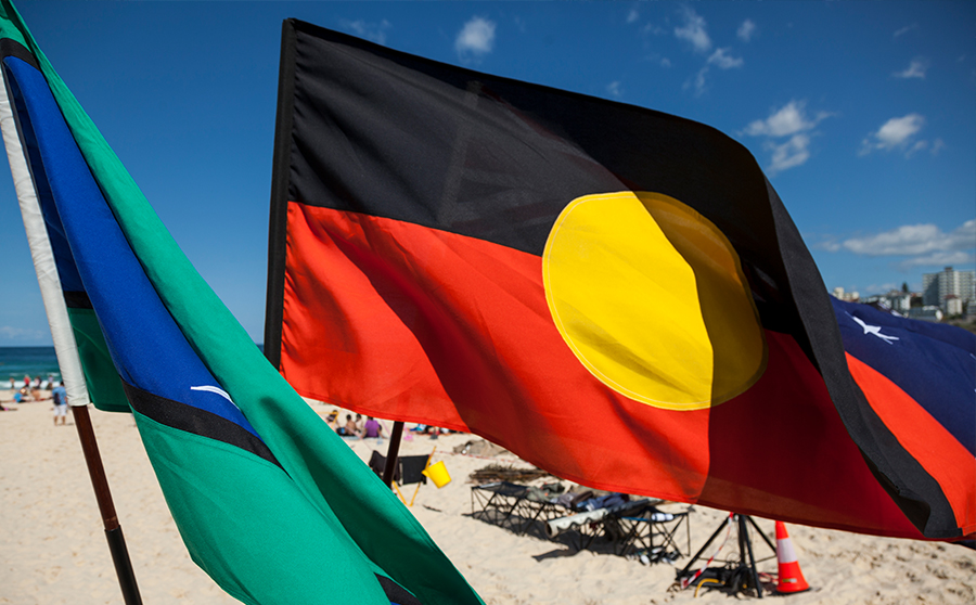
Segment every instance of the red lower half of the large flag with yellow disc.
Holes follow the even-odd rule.
[[[419,224],[288,205],[281,372],[303,395],[481,435],[591,487],[921,538],[789,335],[712,408],[596,379],[553,324],[538,256]]]

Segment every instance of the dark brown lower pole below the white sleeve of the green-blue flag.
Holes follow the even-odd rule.
[[[91,427],[88,406],[72,406],[72,415],[75,417],[81,451],[85,452],[85,462],[88,464],[88,475],[91,477],[91,487],[94,488],[95,500],[102,514],[105,539],[108,540],[108,551],[112,553],[112,562],[115,564],[115,575],[118,576],[123,598],[126,605],[142,605],[132,562],[129,561],[129,551],[126,549],[126,539],[123,536],[118,516],[115,514],[112,492],[108,491],[108,479],[105,477],[105,468],[102,466],[102,456],[99,454],[99,445]]]

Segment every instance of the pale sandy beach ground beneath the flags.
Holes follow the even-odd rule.
[[[123,603],[70,416],[68,426],[53,426],[50,401],[16,406],[5,390],[0,390],[0,400],[16,410],[0,412],[0,603]],[[322,416],[332,410],[318,403],[312,407]],[[94,409],[91,416],[143,601],[236,603],[190,561],[131,416]],[[693,589],[669,590],[676,569],[689,561],[686,552],[673,564],[643,565],[613,554],[599,539],[592,550],[577,551],[565,540],[543,539],[538,531],[517,536],[479,520],[472,515],[468,475],[488,464],[529,465],[509,453],[479,458],[453,452],[455,446],[472,440],[478,438],[415,436],[402,442],[400,453],[427,454],[436,446],[434,460],[444,461],[453,480],[441,489],[429,482],[423,486],[411,511],[487,604],[637,605],[744,598],[716,590],[703,589],[697,597]],[[388,445],[385,439],[348,442],[363,460],[374,449],[385,454]],[[537,482],[543,480],[554,479]],[[408,500],[413,489],[406,486]],[[682,512],[688,506],[669,503],[662,509]],[[692,553],[725,515],[694,507],[689,516]],[[773,536],[771,520],[756,520]],[[776,598],[796,605],[976,602],[976,551],[795,525],[788,530],[811,590]],[[721,556],[734,551],[733,541],[734,533]],[[681,546],[686,548],[683,536]],[[760,557],[771,554],[758,538],[754,546]],[[774,576],[775,558],[760,563],[759,571]],[[329,572],[326,562],[322,572]]]

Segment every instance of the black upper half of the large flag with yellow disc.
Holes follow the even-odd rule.
[[[776,216],[780,201],[755,158],[718,130],[298,21],[285,22],[284,38],[277,199],[541,255],[573,199],[663,193],[704,215],[732,242],[760,307],[792,307],[781,240],[802,243],[788,215]],[[274,214],[272,230],[280,219]],[[782,217],[789,221],[785,229],[776,224]],[[763,313],[767,327],[794,332],[794,313],[773,310]]]

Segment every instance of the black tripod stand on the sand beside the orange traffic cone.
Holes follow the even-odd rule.
[[[749,537],[749,525],[752,525],[756,529],[756,532],[762,537],[762,540],[770,550],[772,550],[773,556],[775,556],[776,546],[773,545],[765,533],[762,533],[762,530],[759,529],[759,526],[756,525],[753,517],[729,513],[729,517],[715,530],[711,538],[709,538],[708,541],[705,542],[705,545],[695,553],[695,556],[693,556],[688,565],[684,566],[684,569],[678,572],[677,581],[680,583],[681,588],[688,588],[702,577],[702,583],[706,581],[716,582],[729,587],[733,593],[739,591],[745,592],[746,590],[753,589],[756,591],[756,596],[762,598],[762,584],[759,583],[759,572],[756,570],[756,556],[753,551],[753,540]],[[718,538],[722,529],[729,527],[731,532],[732,527],[730,526],[734,526],[737,530],[739,558],[725,561],[725,566],[722,568],[708,567],[716,555],[718,555],[718,551],[716,551],[716,553],[705,563],[705,567],[694,572],[691,571],[691,566],[702,558],[702,553],[704,553],[715,539]],[[721,545],[719,546],[719,550],[721,550]]]

